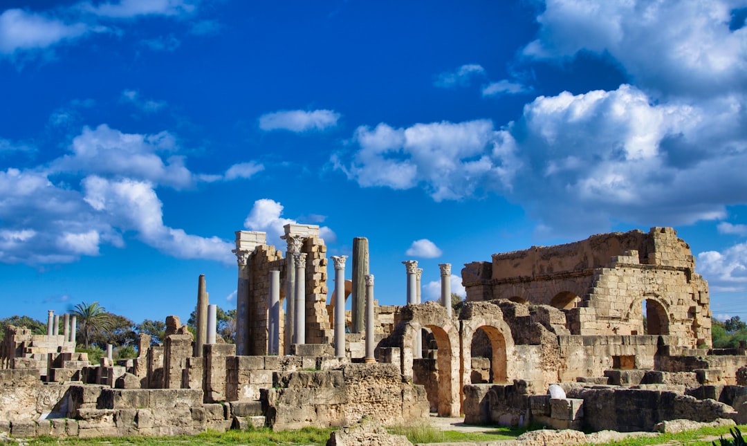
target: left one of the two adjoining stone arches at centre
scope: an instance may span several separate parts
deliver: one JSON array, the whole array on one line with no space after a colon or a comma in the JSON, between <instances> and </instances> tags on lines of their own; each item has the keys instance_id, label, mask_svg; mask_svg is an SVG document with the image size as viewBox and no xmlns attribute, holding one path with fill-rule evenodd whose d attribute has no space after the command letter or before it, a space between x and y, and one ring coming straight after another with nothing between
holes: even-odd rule
<instances>
[{"instance_id":1,"label":"left one of the two adjoining stone arches at centre","mask_svg":"<svg viewBox=\"0 0 747 446\"><path fill-rule=\"evenodd\" d=\"M395 328L401 336L396 341L400 347L402 374L413 378L415 355L412 350L415 336L429 329L438 346L436 371L438 372L437 397L438 416L458 417L461 410L462 386L459 380L459 329L449 318L444 307L434 302L406 306L401 313L403 320ZM418 384L418 382L415 382Z\"/></svg>"}]
</instances>

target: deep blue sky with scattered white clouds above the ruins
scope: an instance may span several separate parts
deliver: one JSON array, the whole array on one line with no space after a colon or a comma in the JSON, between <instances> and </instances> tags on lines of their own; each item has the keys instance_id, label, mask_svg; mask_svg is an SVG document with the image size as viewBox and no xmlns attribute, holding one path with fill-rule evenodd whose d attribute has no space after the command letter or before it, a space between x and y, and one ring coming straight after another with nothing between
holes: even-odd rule
<instances>
[{"instance_id":1,"label":"deep blue sky with scattered white clouds above the ruins","mask_svg":"<svg viewBox=\"0 0 747 446\"><path fill-rule=\"evenodd\" d=\"M0 317L235 306L234 232L438 264L675 226L747 319L747 1L0 2ZM333 272L329 270L330 276ZM350 267L347 276L350 277ZM459 288L459 278L453 278ZM332 283L330 282L330 288Z\"/></svg>"}]
</instances>

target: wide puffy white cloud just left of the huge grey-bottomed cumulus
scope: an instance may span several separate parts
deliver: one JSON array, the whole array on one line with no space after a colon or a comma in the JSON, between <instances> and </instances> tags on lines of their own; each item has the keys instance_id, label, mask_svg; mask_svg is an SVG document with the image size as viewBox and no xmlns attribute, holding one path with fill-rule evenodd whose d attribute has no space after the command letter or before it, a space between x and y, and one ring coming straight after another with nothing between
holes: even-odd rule
<instances>
[{"instance_id":1,"label":"wide puffy white cloud just left of the huge grey-bottomed cumulus","mask_svg":"<svg viewBox=\"0 0 747 446\"><path fill-rule=\"evenodd\" d=\"M423 185L436 201L462 199L493 184L509 185L520 164L505 131L490 120L415 124L392 128L361 126L360 149L335 167L362 187L409 189Z\"/></svg>"}]
</instances>

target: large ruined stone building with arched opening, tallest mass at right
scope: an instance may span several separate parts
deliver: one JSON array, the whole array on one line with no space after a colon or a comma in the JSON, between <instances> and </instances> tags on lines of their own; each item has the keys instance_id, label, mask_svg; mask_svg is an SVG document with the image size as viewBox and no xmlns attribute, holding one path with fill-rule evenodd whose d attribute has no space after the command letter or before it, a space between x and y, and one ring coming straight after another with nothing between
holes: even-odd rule
<instances>
[{"instance_id":1,"label":"large ruined stone building with arched opening, tallest mass at right","mask_svg":"<svg viewBox=\"0 0 747 446\"><path fill-rule=\"evenodd\" d=\"M465 264L468 301L507 299L563 309L575 335L672 335L710 345L707 282L672 228L593 235ZM643 304L648 308L648 333Z\"/></svg>"}]
</instances>

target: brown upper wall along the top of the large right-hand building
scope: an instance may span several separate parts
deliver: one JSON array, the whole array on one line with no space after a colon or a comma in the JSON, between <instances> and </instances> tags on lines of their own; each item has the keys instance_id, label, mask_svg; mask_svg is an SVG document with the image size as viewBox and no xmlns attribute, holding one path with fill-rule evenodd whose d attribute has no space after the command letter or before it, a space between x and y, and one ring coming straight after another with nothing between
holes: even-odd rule
<instances>
[{"instance_id":1,"label":"brown upper wall along the top of the large right-hand building","mask_svg":"<svg viewBox=\"0 0 747 446\"><path fill-rule=\"evenodd\" d=\"M583 241L553 247L492 255L490 279L542 276L604 267L610 258L636 250L640 264L695 269L689 245L672 228L654 227L648 233L633 230L592 235Z\"/></svg>"}]
</instances>

